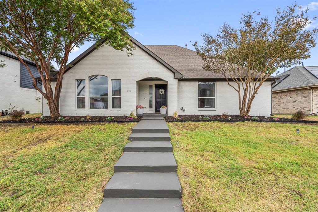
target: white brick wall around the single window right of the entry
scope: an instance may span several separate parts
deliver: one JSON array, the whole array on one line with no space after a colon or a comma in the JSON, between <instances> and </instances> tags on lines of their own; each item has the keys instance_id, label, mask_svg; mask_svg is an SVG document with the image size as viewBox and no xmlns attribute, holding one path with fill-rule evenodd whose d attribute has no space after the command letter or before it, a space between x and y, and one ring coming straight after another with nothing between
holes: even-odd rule
<instances>
[{"instance_id":1,"label":"white brick wall around the single window right of the entry","mask_svg":"<svg viewBox=\"0 0 318 212\"><path fill-rule=\"evenodd\" d=\"M234 84L234 83L233 83ZM250 115L269 116L271 113L271 82L264 82L256 94ZM224 112L230 115L239 114L239 97L237 91L226 81L216 82L216 110L198 109L198 82L178 82L178 114L179 115L220 115ZM183 107L183 112L180 108Z\"/></svg>"}]
</instances>

